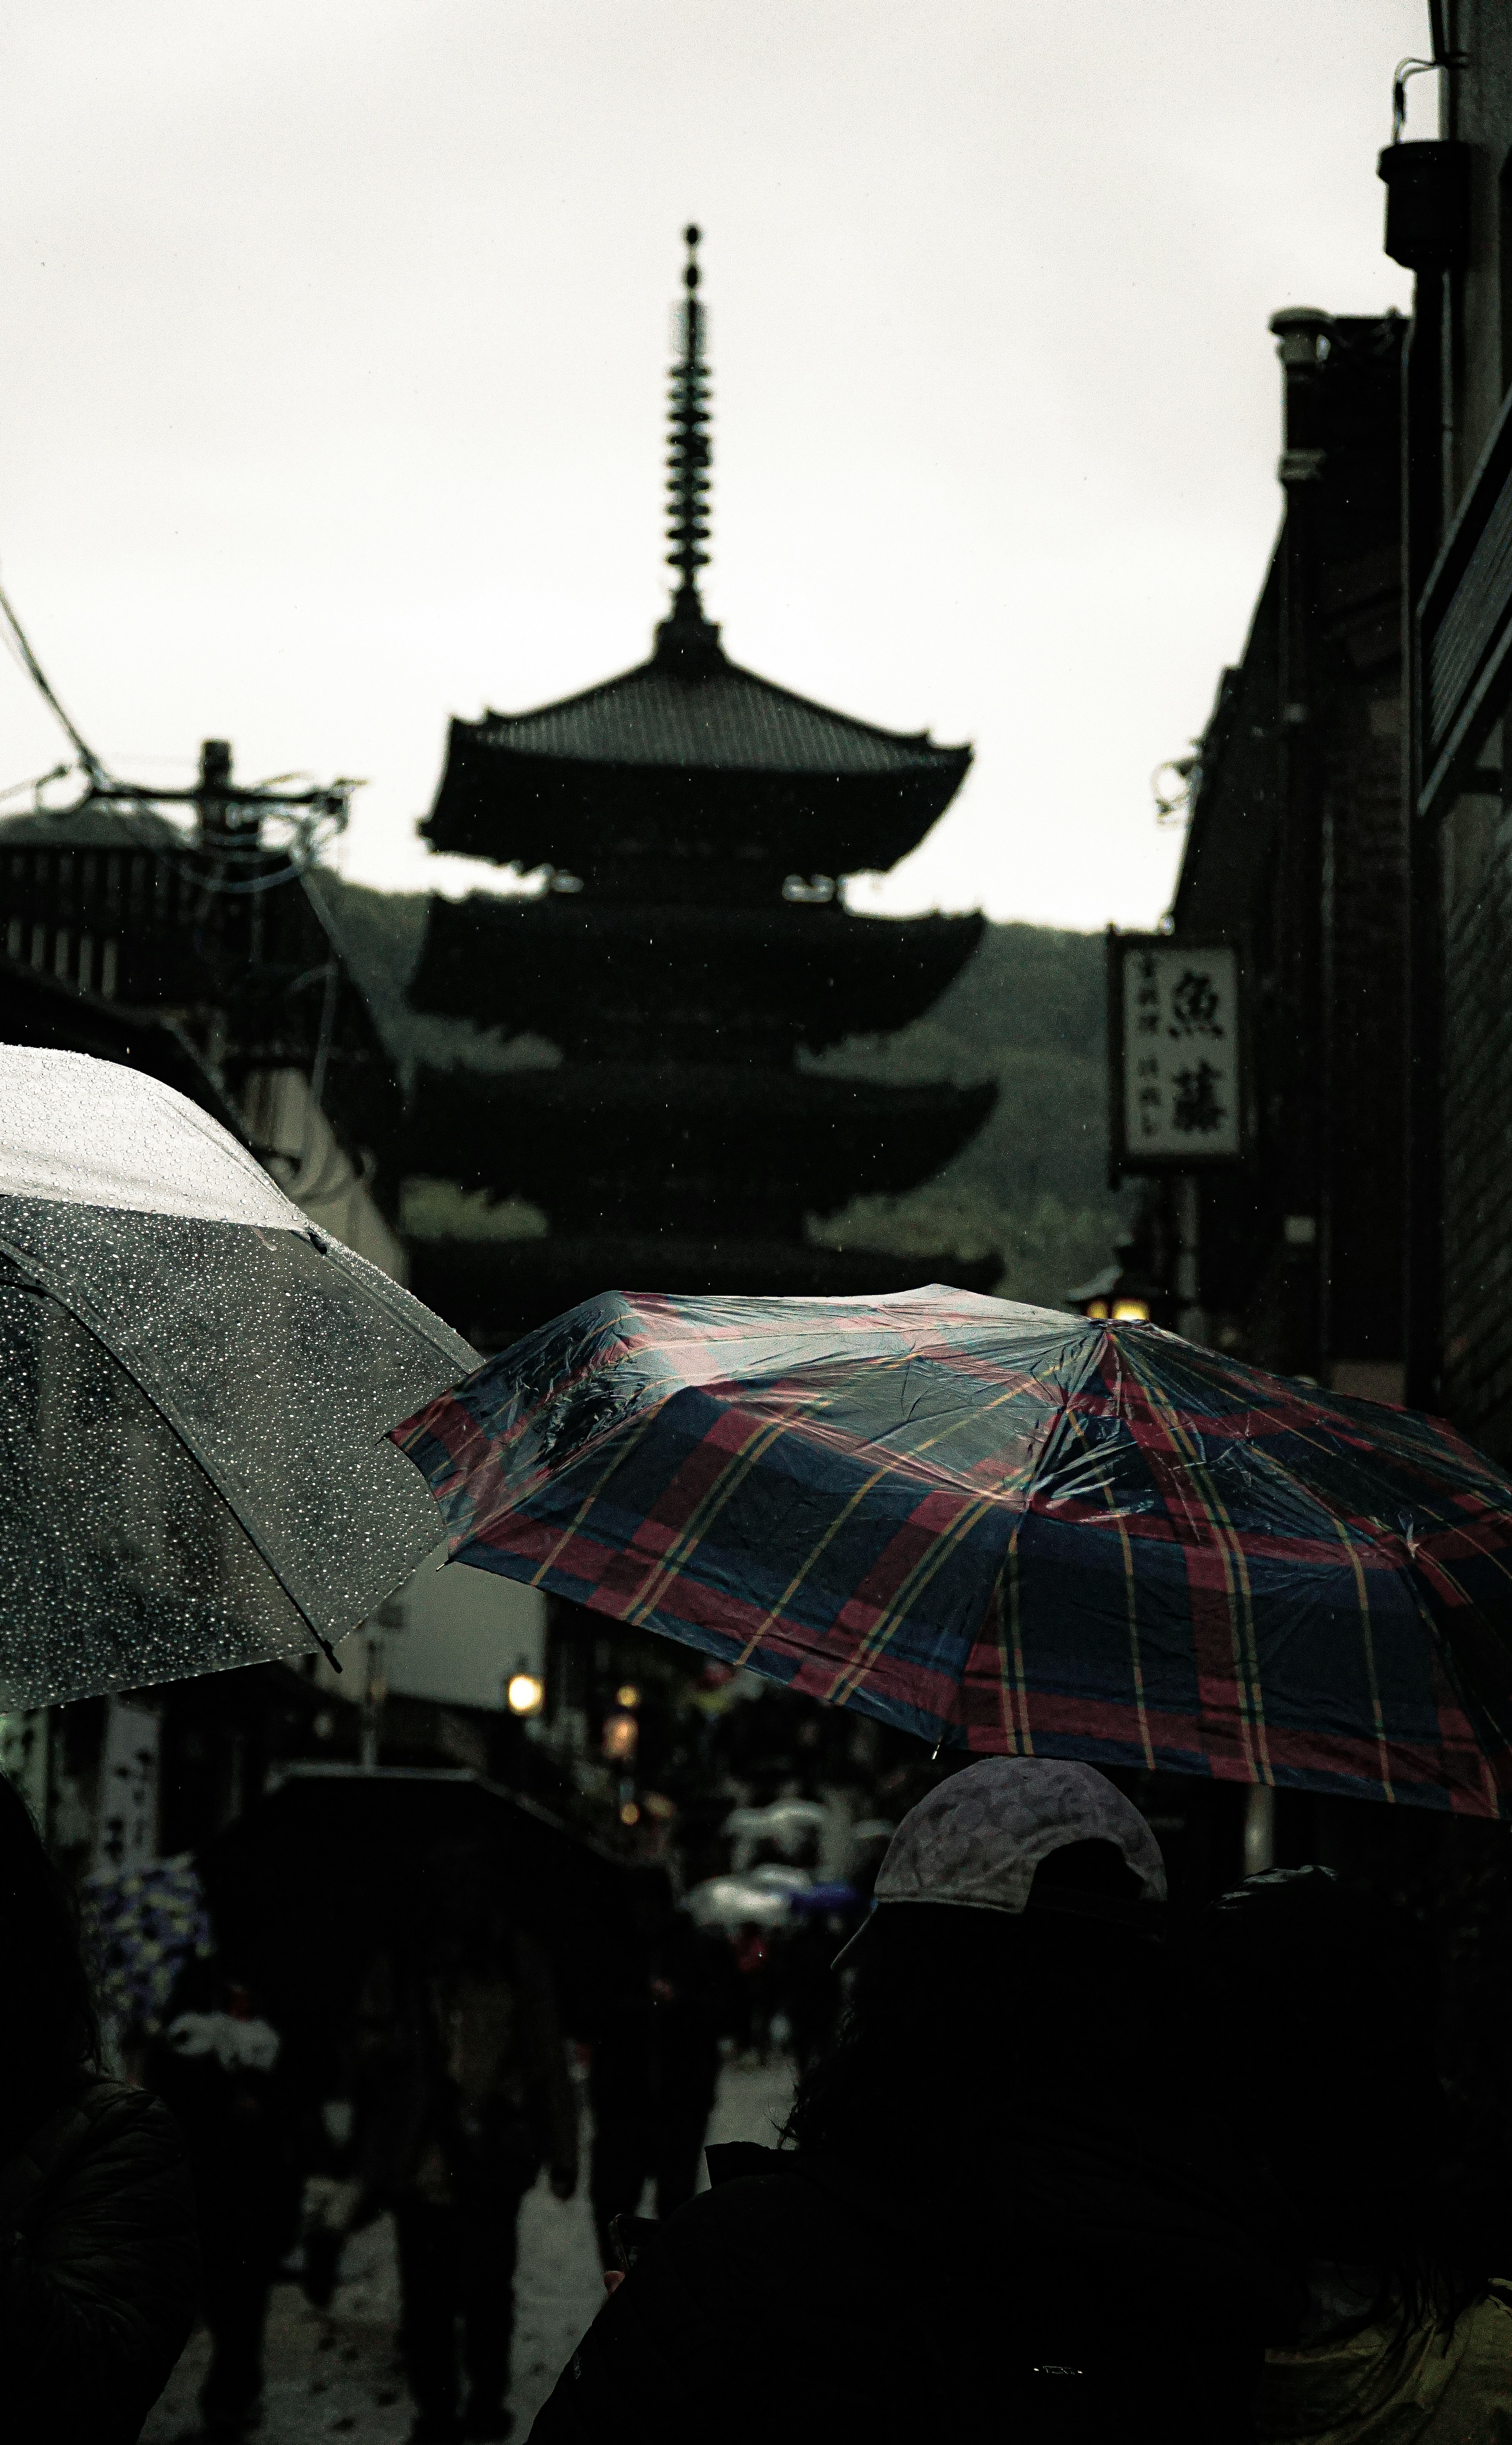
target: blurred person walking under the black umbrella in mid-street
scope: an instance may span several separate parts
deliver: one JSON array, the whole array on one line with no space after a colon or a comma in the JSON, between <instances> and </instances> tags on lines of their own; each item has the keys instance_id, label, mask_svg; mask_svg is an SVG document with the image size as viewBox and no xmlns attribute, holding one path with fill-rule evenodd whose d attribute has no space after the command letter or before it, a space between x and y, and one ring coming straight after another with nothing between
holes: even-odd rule
<instances>
[{"instance_id":1,"label":"blurred person walking under the black umbrella in mid-street","mask_svg":"<svg viewBox=\"0 0 1512 2445\"><path fill-rule=\"evenodd\" d=\"M576 2100L547 1963L476 1875L430 1941L374 1963L354 2105L359 2220L396 2215L410 2435L506 2438L520 2200L542 2161L576 2191Z\"/></svg>"}]
</instances>

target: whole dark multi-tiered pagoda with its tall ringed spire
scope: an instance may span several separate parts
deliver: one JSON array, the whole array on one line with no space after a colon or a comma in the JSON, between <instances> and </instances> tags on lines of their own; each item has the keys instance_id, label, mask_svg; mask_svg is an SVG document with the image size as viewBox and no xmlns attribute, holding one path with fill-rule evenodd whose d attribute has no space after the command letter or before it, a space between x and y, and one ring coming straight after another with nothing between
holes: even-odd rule
<instances>
[{"instance_id":1,"label":"whole dark multi-tiered pagoda with its tall ringed spire","mask_svg":"<svg viewBox=\"0 0 1512 2445\"><path fill-rule=\"evenodd\" d=\"M733 663L703 614L708 362L686 230L672 369L669 565L647 663L528 714L452 721L423 836L535 892L430 902L410 1007L476 1059L420 1066L403 1169L545 1215L545 1237L413 1240L415 1291L498 1347L596 1291L835 1296L997 1262L826 1249L811 1218L928 1181L994 1088L806 1066L921 1017L982 917L857 917L840 883L896 866L970 748L828 711ZM530 1039L501 1066L501 1042ZM491 1049L491 1051L486 1051ZM550 1066L547 1066L550 1064Z\"/></svg>"}]
</instances>

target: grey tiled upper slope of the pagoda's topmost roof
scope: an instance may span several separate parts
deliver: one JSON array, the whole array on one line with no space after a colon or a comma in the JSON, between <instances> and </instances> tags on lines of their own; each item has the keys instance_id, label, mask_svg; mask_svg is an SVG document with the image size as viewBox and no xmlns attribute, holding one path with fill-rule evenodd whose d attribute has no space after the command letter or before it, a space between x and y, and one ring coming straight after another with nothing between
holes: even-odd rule
<instances>
[{"instance_id":1,"label":"grey tiled upper slope of the pagoda's topmost roof","mask_svg":"<svg viewBox=\"0 0 1512 2445\"><path fill-rule=\"evenodd\" d=\"M679 765L725 773L916 773L965 765L967 748L940 748L926 731L879 731L757 680L718 655L689 675L664 660L640 663L532 714L486 714L479 746L576 763Z\"/></svg>"}]
</instances>

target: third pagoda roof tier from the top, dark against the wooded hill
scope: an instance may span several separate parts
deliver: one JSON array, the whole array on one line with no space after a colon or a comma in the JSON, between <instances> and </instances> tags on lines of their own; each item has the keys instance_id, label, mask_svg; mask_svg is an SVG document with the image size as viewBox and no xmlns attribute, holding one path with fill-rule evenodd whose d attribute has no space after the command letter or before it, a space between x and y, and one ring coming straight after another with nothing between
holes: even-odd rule
<instances>
[{"instance_id":1,"label":"third pagoda roof tier from the top, dark against the wooded hill","mask_svg":"<svg viewBox=\"0 0 1512 2445\"><path fill-rule=\"evenodd\" d=\"M564 1227L728 1213L772 1237L916 1188L977 1134L994 1086L877 1086L745 1064L567 1061L415 1078L401 1171L520 1196Z\"/></svg>"}]
</instances>

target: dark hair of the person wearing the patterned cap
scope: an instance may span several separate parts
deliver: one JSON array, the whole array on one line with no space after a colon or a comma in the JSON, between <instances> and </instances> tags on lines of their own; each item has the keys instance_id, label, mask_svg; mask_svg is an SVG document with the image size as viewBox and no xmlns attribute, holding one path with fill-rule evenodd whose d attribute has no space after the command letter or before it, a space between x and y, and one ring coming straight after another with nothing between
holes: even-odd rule
<instances>
[{"instance_id":1,"label":"dark hair of the person wearing the patterned cap","mask_svg":"<svg viewBox=\"0 0 1512 2445\"><path fill-rule=\"evenodd\" d=\"M992 2149L1033 2095L1045 2112L1116 2112L1158 2076L1163 1946L1131 1932L1141 1885L1111 1844L1067 1844L1033 1892L1109 1900L1099 1924L1031 1907L884 1902L855 1946L835 2044L799 2081L784 2142L884 2142L948 2161ZM1153 1905L1150 1924L1160 1924ZM1133 1914L1136 1917L1136 1914ZM1109 2034L1109 2032L1116 2032Z\"/></svg>"}]
</instances>

